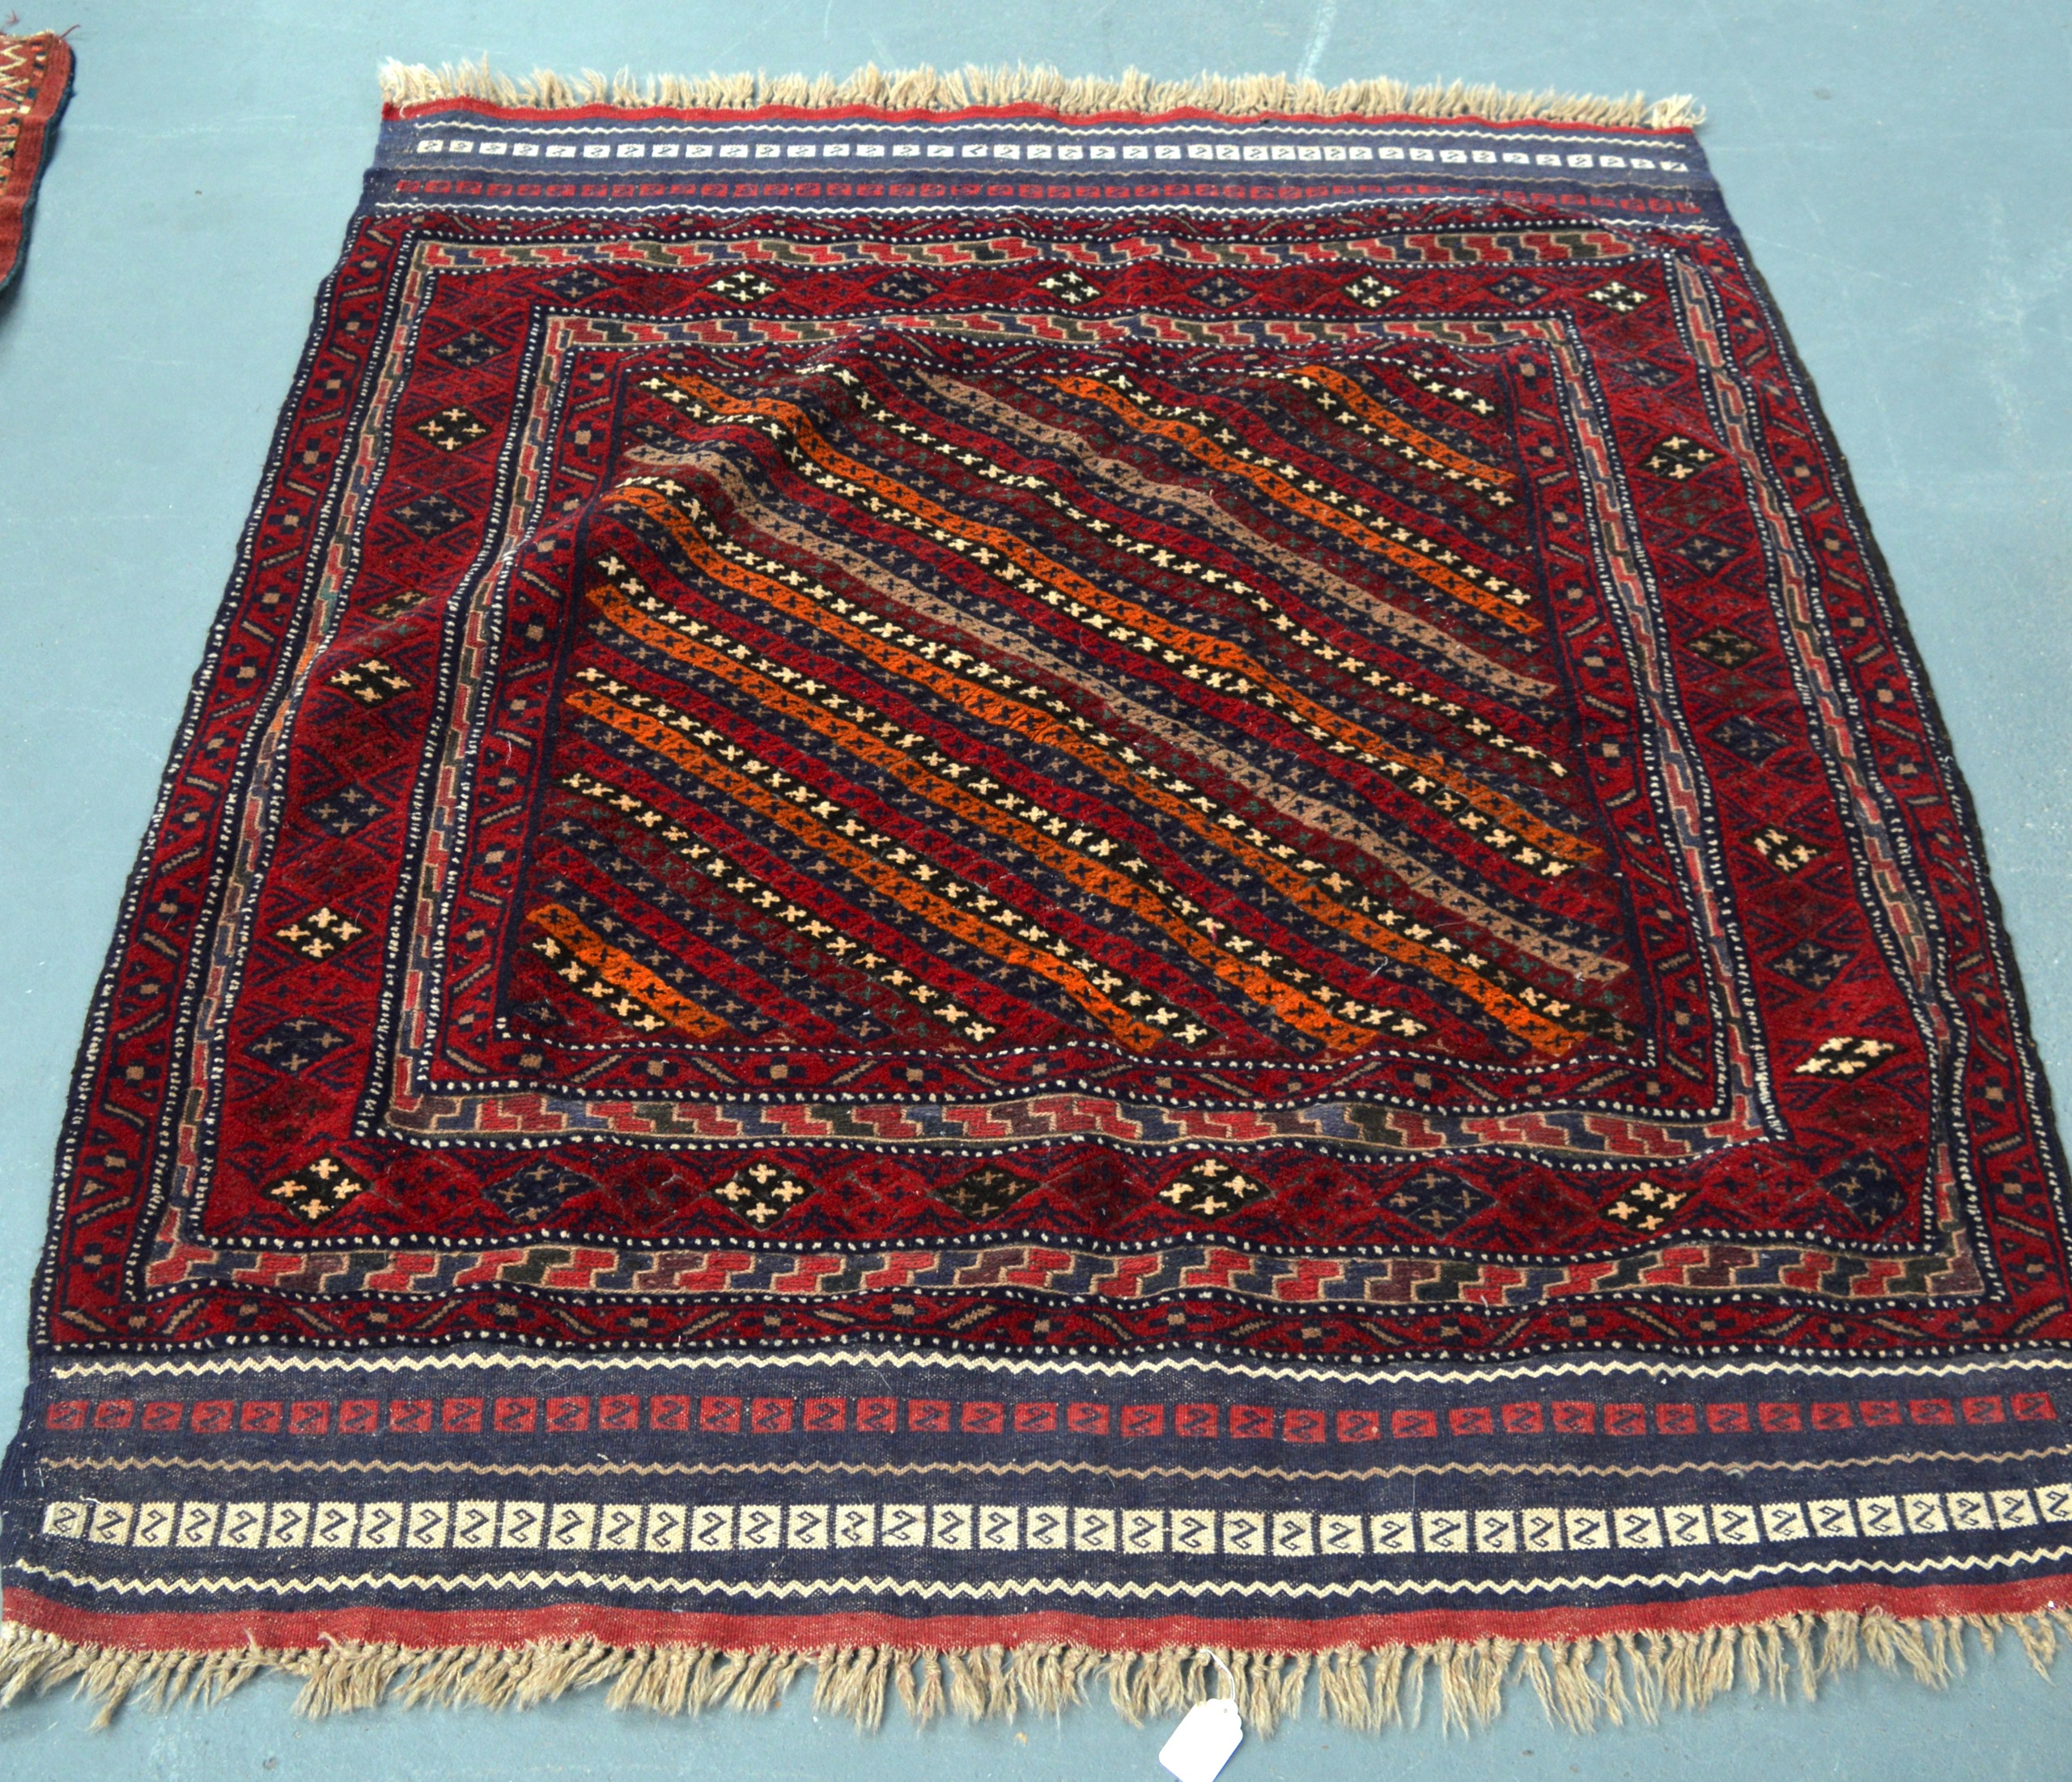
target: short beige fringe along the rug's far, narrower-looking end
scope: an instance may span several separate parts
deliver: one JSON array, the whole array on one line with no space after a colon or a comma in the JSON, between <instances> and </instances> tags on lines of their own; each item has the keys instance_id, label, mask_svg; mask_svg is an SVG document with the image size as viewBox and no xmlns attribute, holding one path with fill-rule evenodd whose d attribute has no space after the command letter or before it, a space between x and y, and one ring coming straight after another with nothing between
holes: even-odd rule
<instances>
[{"instance_id":1,"label":"short beige fringe along the rug's far, narrower-looking end","mask_svg":"<svg viewBox=\"0 0 2072 1782\"><path fill-rule=\"evenodd\" d=\"M1092 112L1220 112L1233 118L1258 116L1413 116L1486 118L1508 122L1535 118L1558 124L1643 124L1651 131L1695 128L1705 112L1689 93L1645 99L1639 93L1602 97L1560 93L1552 87L1506 91L1504 87L1432 81L1320 81L1287 75L1200 75L1193 81L1154 81L1140 68L1117 79L1100 75L1067 77L1051 66L997 68L858 68L845 81L831 75L655 75L646 81L630 70L601 75L584 68L576 79L537 68L530 79L481 62L385 62L381 97L390 106L427 106L439 99L489 99L497 106L557 112L572 106L622 106L700 112L744 112L758 106L879 106L893 112L961 112L970 106L1044 106L1061 116Z\"/></svg>"}]
</instances>

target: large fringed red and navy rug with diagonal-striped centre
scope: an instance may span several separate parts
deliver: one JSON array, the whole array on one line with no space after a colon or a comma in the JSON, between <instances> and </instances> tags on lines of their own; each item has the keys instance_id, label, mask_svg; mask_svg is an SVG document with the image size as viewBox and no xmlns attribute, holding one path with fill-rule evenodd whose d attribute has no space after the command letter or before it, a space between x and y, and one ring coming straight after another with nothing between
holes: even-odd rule
<instances>
[{"instance_id":1,"label":"large fringed red and navy rug with diagonal-striped centre","mask_svg":"<svg viewBox=\"0 0 2072 1782\"><path fill-rule=\"evenodd\" d=\"M33 1341L17 1691L2045 1660L2047 1094L1691 110L392 70Z\"/></svg>"}]
</instances>

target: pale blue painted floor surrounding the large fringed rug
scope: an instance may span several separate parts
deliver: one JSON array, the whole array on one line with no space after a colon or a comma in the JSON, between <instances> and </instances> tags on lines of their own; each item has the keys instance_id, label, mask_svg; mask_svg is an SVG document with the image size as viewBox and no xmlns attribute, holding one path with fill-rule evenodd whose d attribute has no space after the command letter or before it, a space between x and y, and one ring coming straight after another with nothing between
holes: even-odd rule
<instances>
[{"instance_id":1,"label":"pale blue painted floor surrounding the large fringed rug","mask_svg":"<svg viewBox=\"0 0 2072 1782\"><path fill-rule=\"evenodd\" d=\"M2072 1088L2072 6L2064 0L37 0L77 25L19 292L0 305L0 1417L87 993L375 137L375 66L845 73L1044 60L1160 77L1459 75L1693 91L1705 147L1819 383L1979 802L2047 1067ZM1948 1695L1881 1674L1819 1705L1575 1738L1527 1693L1475 1741L1314 1720L1231 1782L2072 1776L2072 1668L2004 1643ZM1167 1728L903 1724L798 1691L696 1724L597 1699L305 1724L286 1687L211 1714L0 1716L17 1782L209 1778L1162 1778Z\"/></svg>"}]
</instances>

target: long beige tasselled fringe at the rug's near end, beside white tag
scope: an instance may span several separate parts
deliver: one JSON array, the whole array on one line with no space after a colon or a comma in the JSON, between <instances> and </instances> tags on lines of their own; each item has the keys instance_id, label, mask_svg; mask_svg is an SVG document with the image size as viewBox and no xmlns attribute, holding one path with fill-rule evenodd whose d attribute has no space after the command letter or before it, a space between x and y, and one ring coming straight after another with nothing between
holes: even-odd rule
<instances>
[{"instance_id":1,"label":"long beige tasselled fringe at the rug's near end, beside white tag","mask_svg":"<svg viewBox=\"0 0 2072 1782\"><path fill-rule=\"evenodd\" d=\"M2039 1676L2049 1676L2072 1612L1964 1614L1902 1620L1881 1610L1788 1614L1736 1627L1618 1633L1573 1641L1452 1641L1328 1651L1237 1651L1167 1647L1100 1651L1065 1641L924 1649L841 1645L818 1649L723 1649L711 1645L611 1645L543 1639L528 1645L406 1647L327 1639L317 1647L249 1645L228 1651L128 1651L0 1627L0 1707L66 1683L108 1726L124 1701L213 1705L263 1672L300 1678L294 1712L323 1718L394 1701L404 1707L535 1707L578 1689L605 1689L609 1707L702 1714L777 1707L800 1672L814 1668L812 1707L860 1730L883 1726L897 1697L916 1726L943 1714L966 1720L1061 1716L1106 1680L1109 1701L1133 1726L1164 1720L1196 1701L1229 1695L1245 1724L1268 1734L1283 1720L1318 1712L1357 1732L1415 1726L1426 1678L1438 1689L1440 1728L1479 1732L1504 1707L1504 1691L1527 1685L1548 1720L1571 1732L1647 1724L1668 1707L1701 1709L1736 1683L1751 1695L1811 1701L1830 1676L1869 1660L1881 1670L1948 1689L1964 1672L1973 1635L1991 1654L2012 1633ZM1316 1678L1316 1689L1310 1680Z\"/></svg>"}]
</instances>

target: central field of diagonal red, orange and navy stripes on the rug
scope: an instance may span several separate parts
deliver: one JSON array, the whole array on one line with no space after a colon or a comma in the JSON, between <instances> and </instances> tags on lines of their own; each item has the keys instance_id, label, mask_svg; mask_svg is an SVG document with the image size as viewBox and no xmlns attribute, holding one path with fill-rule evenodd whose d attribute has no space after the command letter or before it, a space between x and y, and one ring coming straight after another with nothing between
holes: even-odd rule
<instances>
[{"instance_id":1,"label":"central field of diagonal red, orange and navy stripes on the rug","mask_svg":"<svg viewBox=\"0 0 2072 1782\"><path fill-rule=\"evenodd\" d=\"M570 850L603 860L613 829L574 800L628 775L667 808L622 816L655 835L663 808L754 883L657 868L698 887L680 916L642 912L696 1009L584 1009L520 970L512 1011L541 1044L661 1022L847 1055L1616 1042L1639 1011L1608 850L1564 758L1527 541L1496 530L1517 470L1386 371L636 373L584 541L584 690L551 775L574 798L547 814L564 845L535 850L526 920L580 932L543 908L582 895ZM624 717L642 702L690 742L644 742ZM733 997L698 928L723 910L750 930L765 885L825 887L827 926L773 932L785 966L748 961Z\"/></svg>"}]
</instances>

